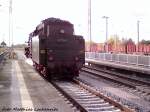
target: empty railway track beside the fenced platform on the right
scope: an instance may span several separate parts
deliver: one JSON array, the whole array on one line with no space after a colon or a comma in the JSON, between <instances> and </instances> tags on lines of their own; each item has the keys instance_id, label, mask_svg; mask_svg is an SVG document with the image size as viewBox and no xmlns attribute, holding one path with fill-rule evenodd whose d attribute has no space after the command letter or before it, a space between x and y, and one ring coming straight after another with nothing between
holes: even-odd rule
<instances>
[{"instance_id":1,"label":"empty railway track beside the fenced platform on the right","mask_svg":"<svg viewBox=\"0 0 150 112\"><path fill-rule=\"evenodd\" d=\"M117 86L124 86L124 88L126 88L126 90L129 92L134 93L147 101L150 101L150 82L148 81L135 79L113 71L101 70L88 66L85 66L82 71L117 83Z\"/></svg>"}]
</instances>

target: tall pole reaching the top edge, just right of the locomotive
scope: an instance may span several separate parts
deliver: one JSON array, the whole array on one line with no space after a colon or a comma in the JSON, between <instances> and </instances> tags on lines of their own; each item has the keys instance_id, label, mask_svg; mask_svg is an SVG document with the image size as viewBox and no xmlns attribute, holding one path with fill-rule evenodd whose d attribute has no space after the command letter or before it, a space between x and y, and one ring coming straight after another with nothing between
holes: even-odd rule
<instances>
[{"instance_id":1,"label":"tall pole reaching the top edge, just right of the locomotive","mask_svg":"<svg viewBox=\"0 0 150 112\"><path fill-rule=\"evenodd\" d=\"M89 47L91 52L91 0L88 0L88 37L89 37Z\"/></svg>"}]
</instances>

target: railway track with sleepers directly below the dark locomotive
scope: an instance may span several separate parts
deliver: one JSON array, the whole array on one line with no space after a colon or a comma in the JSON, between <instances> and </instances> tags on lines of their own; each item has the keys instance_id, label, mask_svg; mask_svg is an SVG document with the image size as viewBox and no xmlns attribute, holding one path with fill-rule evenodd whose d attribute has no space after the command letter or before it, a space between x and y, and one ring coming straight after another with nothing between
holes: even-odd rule
<instances>
[{"instance_id":1,"label":"railway track with sleepers directly below the dark locomotive","mask_svg":"<svg viewBox=\"0 0 150 112\"><path fill-rule=\"evenodd\" d=\"M133 112L78 79L52 84L81 112Z\"/></svg>"}]
</instances>

